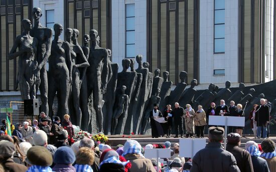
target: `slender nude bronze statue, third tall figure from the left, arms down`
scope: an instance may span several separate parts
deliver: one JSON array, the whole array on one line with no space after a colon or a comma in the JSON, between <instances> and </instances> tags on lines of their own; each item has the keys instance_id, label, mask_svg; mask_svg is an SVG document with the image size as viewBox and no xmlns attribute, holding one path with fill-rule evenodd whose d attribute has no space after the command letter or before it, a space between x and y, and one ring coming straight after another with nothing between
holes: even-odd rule
<instances>
[{"instance_id":1,"label":"slender nude bronze statue, third tall figure from the left, arms down","mask_svg":"<svg viewBox=\"0 0 276 172\"><path fill-rule=\"evenodd\" d=\"M49 58L49 116L53 116L53 102L57 92L58 113L60 118L68 114L68 98L70 83L72 81L71 48L67 41L62 41L60 35L63 27L54 25L55 38L52 42L51 56ZM65 36L72 36L73 31L66 30Z\"/></svg>"}]
</instances>

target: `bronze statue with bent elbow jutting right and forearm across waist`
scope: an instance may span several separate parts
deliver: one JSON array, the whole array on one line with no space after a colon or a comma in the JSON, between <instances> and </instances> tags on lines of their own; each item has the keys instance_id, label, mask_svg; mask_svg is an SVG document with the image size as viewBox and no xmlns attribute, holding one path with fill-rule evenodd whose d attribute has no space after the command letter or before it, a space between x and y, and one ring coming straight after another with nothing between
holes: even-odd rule
<instances>
[{"instance_id":1,"label":"bronze statue with bent elbow jutting right and forearm across waist","mask_svg":"<svg viewBox=\"0 0 276 172\"><path fill-rule=\"evenodd\" d=\"M70 40L70 46L76 56L71 56L72 60L72 91L71 91L71 121L75 123L75 125L80 126L82 113L80 109L80 88L82 85L82 81L84 75L81 75L79 69L83 69L86 71L86 68L89 66L89 63L78 43L79 31L77 29L73 29L73 35ZM68 40L69 42L69 40Z\"/></svg>"}]
</instances>

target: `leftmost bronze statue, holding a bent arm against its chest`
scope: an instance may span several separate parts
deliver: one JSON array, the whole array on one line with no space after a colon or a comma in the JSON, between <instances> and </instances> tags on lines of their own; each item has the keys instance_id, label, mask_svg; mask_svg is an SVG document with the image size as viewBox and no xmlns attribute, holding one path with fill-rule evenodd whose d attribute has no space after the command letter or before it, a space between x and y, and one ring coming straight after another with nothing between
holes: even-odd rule
<instances>
[{"instance_id":1,"label":"leftmost bronze statue, holding a bent arm against its chest","mask_svg":"<svg viewBox=\"0 0 276 172\"><path fill-rule=\"evenodd\" d=\"M18 36L8 55L9 60L13 60L19 56L18 60L18 82L22 99L35 99L37 87L39 86L39 73L34 73L37 70L37 44L36 38L30 36L32 29L31 21L28 19L22 20L24 32ZM16 49L19 49L16 52Z\"/></svg>"}]
</instances>

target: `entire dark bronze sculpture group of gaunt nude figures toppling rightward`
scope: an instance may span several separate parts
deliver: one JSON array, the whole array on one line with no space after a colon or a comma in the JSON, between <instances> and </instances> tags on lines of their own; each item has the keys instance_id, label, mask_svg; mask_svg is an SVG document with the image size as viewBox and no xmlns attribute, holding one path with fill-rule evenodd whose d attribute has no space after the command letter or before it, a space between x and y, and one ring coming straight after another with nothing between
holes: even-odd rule
<instances>
[{"instance_id":1,"label":"entire dark bronze sculpture group of gaunt nude figures toppling rightward","mask_svg":"<svg viewBox=\"0 0 276 172\"><path fill-rule=\"evenodd\" d=\"M210 84L208 90L199 94L194 88L196 79L186 88L185 71L180 72L181 81L171 91L173 83L169 81L169 72L164 71L163 78L159 76L159 69L151 73L150 65L143 63L142 55L123 59L123 70L118 72L118 64L110 61L111 50L99 46L96 30L90 30L89 35L83 36L84 45L81 47L77 29L65 29L63 41L60 39L63 27L55 24L54 40L51 41L52 30L40 23L40 8L33 9L33 17L33 28L30 20L22 20L24 32L16 38L8 56L10 60L19 56L18 82L22 99L36 98L39 89L42 111L50 117L63 117L69 113L72 123L83 130L106 134L145 134L150 132L149 113L153 104L159 104L162 111L167 104L175 102L181 106L202 105L207 109L211 102L217 103L220 99L225 99L226 103L234 100L242 105L246 101L259 100L253 98L253 88L248 94L243 93L243 83L238 90L231 91L230 81L226 81L225 88L220 90L215 84ZM137 69L134 69L135 62ZM54 114L56 95L58 111ZM93 120L97 131L91 131L91 125L95 125Z\"/></svg>"}]
</instances>

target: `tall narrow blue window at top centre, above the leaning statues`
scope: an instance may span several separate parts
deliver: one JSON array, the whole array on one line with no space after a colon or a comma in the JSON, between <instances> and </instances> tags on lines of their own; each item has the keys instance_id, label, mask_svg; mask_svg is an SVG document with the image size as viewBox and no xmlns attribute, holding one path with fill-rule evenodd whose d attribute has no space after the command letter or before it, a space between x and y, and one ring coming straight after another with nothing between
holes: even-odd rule
<instances>
[{"instance_id":1,"label":"tall narrow blue window at top centre, above the leaning statues","mask_svg":"<svg viewBox=\"0 0 276 172\"><path fill-rule=\"evenodd\" d=\"M135 6L125 5L125 57L135 57Z\"/></svg>"}]
</instances>

